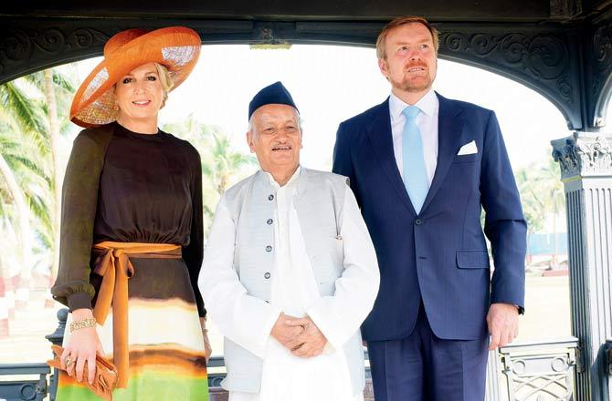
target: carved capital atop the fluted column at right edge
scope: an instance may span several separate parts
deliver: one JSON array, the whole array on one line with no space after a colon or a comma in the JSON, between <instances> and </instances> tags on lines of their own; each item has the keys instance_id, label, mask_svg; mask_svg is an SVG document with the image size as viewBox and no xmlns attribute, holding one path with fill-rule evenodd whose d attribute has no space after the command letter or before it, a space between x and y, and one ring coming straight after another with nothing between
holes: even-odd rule
<instances>
[{"instance_id":1,"label":"carved capital atop the fluted column at right edge","mask_svg":"<svg viewBox=\"0 0 612 401\"><path fill-rule=\"evenodd\" d=\"M574 132L551 144L554 161L561 166L561 180L612 176L612 134Z\"/></svg>"}]
</instances>

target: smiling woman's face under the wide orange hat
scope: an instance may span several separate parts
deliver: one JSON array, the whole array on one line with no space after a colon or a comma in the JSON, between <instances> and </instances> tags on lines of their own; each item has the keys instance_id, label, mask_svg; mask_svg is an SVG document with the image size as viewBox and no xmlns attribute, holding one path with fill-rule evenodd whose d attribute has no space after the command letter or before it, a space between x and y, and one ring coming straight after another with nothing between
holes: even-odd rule
<instances>
[{"instance_id":1,"label":"smiling woman's face under the wide orange hat","mask_svg":"<svg viewBox=\"0 0 612 401\"><path fill-rule=\"evenodd\" d=\"M124 122L151 122L164 101L164 88L153 63L132 69L115 86L120 119Z\"/></svg>"}]
</instances>

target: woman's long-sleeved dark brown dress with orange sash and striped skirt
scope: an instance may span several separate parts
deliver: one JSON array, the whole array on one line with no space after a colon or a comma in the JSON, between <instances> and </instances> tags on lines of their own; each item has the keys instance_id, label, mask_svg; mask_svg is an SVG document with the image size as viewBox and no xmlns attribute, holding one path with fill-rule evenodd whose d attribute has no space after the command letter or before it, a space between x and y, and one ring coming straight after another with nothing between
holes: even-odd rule
<instances>
[{"instance_id":1,"label":"woman's long-sleeved dark brown dress with orange sash and striped skirt","mask_svg":"<svg viewBox=\"0 0 612 401\"><path fill-rule=\"evenodd\" d=\"M93 306L102 347L125 387L113 399L208 399L198 319L206 315L197 288L202 257L197 150L163 131L139 134L117 122L81 131L64 180L52 293L71 311ZM62 372L57 399L97 396Z\"/></svg>"}]
</instances>

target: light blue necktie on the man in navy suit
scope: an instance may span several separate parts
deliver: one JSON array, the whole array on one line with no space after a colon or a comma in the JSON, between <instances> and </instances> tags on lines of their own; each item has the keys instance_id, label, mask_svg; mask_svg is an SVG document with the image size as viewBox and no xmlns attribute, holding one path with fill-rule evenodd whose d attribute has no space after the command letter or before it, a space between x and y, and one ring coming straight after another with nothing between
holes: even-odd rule
<instances>
[{"instance_id":1,"label":"light blue necktie on the man in navy suit","mask_svg":"<svg viewBox=\"0 0 612 401\"><path fill-rule=\"evenodd\" d=\"M408 106L402 110L406 125L402 133L402 158L404 159L404 185L417 214L423 207L429 182L423 156L423 138L417 127L417 116L420 108Z\"/></svg>"}]
</instances>

